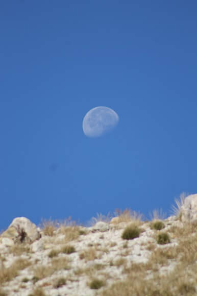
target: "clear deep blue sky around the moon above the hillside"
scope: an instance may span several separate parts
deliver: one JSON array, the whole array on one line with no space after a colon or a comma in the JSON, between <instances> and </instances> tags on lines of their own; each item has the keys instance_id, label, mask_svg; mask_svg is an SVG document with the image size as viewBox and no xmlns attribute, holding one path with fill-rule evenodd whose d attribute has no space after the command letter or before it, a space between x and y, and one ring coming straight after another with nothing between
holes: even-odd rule
<instances>
[{"instance_id":1,"label":"clear deep blue sky around the moon above the hillside","mask_svg":"<svg viewBox=\"0 0 197 296\"><path fill-rule=\"evenodd\" d=\"M197 192L197 2L0 3L0 229ZM88 138L85 114L118 126Z\"/></svg>"}]
</instances>

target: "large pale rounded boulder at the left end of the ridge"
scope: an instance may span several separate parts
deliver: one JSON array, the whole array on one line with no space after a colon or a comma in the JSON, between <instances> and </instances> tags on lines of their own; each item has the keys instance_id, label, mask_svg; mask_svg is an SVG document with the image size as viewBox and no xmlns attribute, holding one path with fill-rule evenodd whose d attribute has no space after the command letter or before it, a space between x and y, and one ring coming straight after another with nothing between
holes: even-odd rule
<instances>
[{"instance_id":1,"label":"large pale rounded boulder at the left end of the ridge","mask_svg":"<svg viewBox=\"0 0 197 296\"><path fill-rule=\"evenodd\" d=\"M0 241L5 245L12 245L17 242L29 242L41 237L36 225L26 217L15 218L9 228L2 233Z\"/></svg>"}]
</instances>

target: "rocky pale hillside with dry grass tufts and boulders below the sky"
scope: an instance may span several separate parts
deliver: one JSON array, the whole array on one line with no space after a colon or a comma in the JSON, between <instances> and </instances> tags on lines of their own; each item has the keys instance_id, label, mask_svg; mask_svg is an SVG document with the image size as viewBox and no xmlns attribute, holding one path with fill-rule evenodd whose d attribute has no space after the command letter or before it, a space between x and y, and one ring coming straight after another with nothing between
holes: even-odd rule
<instances>
[{"instance_id":1,"label":"rocky pale hillside with dry grass tufts and boulders below the sky","mask_svg":"<svg viewBox=\"0 0 197 296\"><path fill-rule=\"evenodd\" d=\"M151 221L126 210L91 227L15 218L0 236L0 296L196 295L197 194L174 210Z\"/></svg>"}]
</instances>

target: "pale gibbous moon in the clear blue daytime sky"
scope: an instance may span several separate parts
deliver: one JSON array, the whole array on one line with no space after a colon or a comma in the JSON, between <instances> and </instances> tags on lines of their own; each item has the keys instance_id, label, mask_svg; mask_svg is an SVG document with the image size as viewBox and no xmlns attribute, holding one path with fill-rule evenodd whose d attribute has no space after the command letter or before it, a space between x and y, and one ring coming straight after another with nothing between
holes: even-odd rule
<instances>
[{"instance_id":1,"label":"pale gibbous moon in the clear blue daytime sky","mask_svg":"<svg viewBox=\"0 0 197 296\"><path fill-rule=\"evenodd\" d=\"M108 107L95 107L83 119L83 131L87 137L95 138L112 130L119 121L117 113Z\"/></svg>"}]
</instances>

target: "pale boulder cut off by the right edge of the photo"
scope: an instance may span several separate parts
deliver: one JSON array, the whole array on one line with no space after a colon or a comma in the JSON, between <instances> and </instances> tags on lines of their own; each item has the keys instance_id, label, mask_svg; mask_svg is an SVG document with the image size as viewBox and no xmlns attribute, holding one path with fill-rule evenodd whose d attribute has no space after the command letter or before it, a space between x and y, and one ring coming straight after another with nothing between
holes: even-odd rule
<instances>
[{"instance_id":1,"label":"pale boulder cut off by the right edge of the photo","mask_svg":"<svg viewBox=\"0 0 197 296\"><path fill-rule=\"evenodd\" d=\"M197 220L197 194L191 194L185 198L180 212L182 222Z\"/></svg>"}]
</instances>

